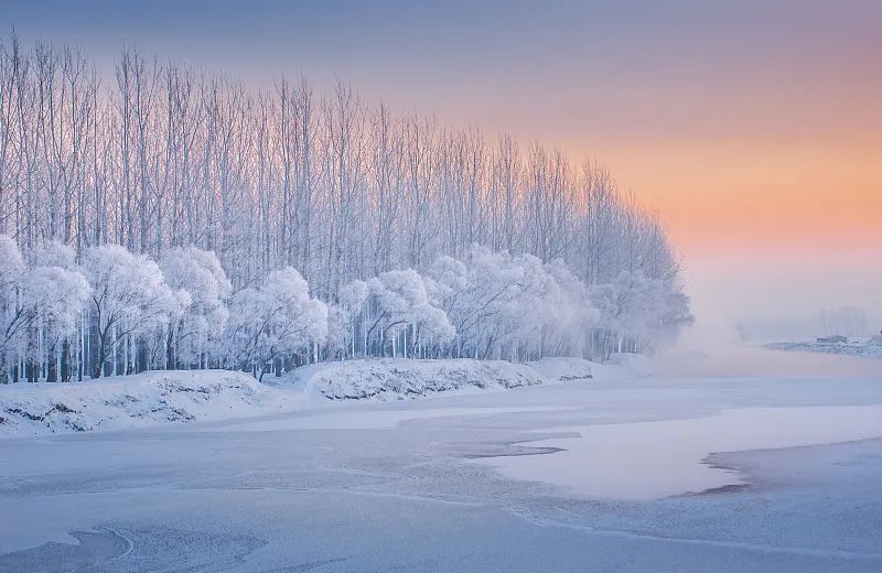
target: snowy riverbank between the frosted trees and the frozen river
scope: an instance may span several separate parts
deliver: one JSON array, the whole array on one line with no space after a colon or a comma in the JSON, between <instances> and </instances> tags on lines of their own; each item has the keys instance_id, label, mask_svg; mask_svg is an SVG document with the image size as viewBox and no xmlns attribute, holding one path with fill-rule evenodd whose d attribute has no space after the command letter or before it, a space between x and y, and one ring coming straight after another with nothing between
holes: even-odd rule
<instances>
[{"instance_id":1,"label":"snowy riverbank between the frosted trees and the frozen river","mask_svg":"<svg viewBox=\"0 0 882 573\"><path fill-rule=\"evenodd\" d=\"M471 359L322 363L267 383L228 370L153 371L72 383L0 387L0 437L123 430L260 417L342 402L388 402L540 383L628 377L638 357L604 366L578 358L512 364Z\"/></svg>"}]
</instances>

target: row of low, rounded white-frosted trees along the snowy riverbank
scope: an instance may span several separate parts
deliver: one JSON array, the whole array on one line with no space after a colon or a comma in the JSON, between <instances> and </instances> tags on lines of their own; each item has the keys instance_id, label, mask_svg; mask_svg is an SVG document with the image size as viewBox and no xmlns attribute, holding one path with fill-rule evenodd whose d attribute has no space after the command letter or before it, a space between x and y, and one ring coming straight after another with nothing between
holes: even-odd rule
<instances>
[{"instance_id":1,"label":"row of low, rounded white-frosted trees along the snowy riverbank","mask_svg":"<svg viewBox=\"0 0 882 573\"><path fill-rule=\"evenodd\" d=\"M193 246L155 262L118 245L52 241L20 252L0 236L3 380L67 381L151 368L281 374L356 356L526 359L584 355L674 333L686 298L643 273L588 286L560 259L474 247L426 274L391 270L310 294L293 268L233 292L217 256Z\"/></svg>"}]
</instances>

